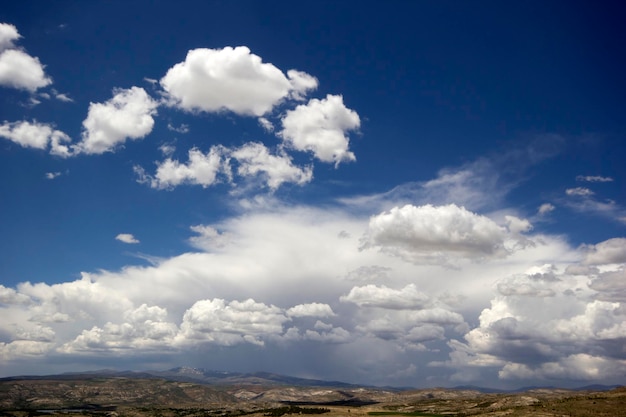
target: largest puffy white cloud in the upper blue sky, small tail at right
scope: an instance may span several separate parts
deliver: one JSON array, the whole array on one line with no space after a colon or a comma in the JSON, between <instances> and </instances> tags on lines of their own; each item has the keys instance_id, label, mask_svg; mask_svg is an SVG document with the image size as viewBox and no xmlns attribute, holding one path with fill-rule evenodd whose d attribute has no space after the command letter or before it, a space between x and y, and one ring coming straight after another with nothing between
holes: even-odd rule
<instances>
[{"instance_id":1,"label":"largest puffy white cloud in the upper blue sky, small tail at right","mask_svg":"<svg viewBox=\"0 0 626 417\"><path fill-rule=\"evenodd\" d=\"M231 111L262 116L287 97L300 99L317 87L301 71L285 75L245 46L190 50L160 81L171 104L187 111Z\"/></svg>"}]
</instances>

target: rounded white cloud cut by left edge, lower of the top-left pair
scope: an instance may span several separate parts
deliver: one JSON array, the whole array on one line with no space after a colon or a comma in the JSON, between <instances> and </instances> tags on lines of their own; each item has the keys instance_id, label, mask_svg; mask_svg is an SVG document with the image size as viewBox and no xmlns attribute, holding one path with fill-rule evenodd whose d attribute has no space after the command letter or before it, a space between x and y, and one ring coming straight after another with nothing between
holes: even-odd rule
<instances>
[{"instance_id":1,"label":"rounded white cloud cut by left edge, lower of the top-left pair","mask_svg":"<svg viewBox=\"0 0 626 417\"><path fill-rule=\"evenodd\" d=\"M0 53L0 85L35 92L52 84L39 58L18 49Z\"/></svg>"}]
</instances>

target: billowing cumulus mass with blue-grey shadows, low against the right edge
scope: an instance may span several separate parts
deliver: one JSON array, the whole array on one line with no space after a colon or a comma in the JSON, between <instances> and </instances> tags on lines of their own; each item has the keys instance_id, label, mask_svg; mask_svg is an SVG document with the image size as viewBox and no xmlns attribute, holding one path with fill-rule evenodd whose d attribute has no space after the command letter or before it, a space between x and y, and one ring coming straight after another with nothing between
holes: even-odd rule
<instances>
[{"instance_id":1,"label":"billowing cumulus mass with blue-grey shadows, low against the right edge","mask_svg":"<svg viewBox=\"0 0 626 417\"><path fill-rule=\"evenodd\" d=\"M465 343L451 344L457 369L494 368L501 379L605 381L623 375L626 355L624 259L615 239L589 268L547 264L502 278L497 296ZM583 260L585 262L585 260ZM616 264L621 262L621 264Z\"/></svg>"}]
</instances>

